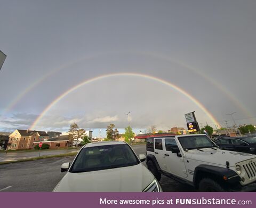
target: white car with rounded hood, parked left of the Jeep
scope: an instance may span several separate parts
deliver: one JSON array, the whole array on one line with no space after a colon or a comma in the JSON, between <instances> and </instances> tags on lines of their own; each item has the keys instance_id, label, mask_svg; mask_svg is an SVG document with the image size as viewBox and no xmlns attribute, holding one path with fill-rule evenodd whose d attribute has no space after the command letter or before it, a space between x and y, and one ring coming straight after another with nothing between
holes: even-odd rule
<instances>
[{"instance_id":1,"label":"white car with rounded hood, parked left of the Jeep","mask_svg":"<svg viewBox=\"0 0 256 208\"><path fill-rule=\"evenodd\" d=\"M162 191L154 175L141 162L145 155L134 153L123 141L95 142L85 145L70 165L67 174L53 191Z\"/></svg>"}]
</instances>

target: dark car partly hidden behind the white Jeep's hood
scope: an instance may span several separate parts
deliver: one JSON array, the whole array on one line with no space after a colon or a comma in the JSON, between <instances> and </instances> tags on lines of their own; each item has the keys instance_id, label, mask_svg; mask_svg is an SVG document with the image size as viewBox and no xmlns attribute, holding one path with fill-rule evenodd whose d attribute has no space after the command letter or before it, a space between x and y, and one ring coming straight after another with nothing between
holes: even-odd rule
<instances>
[{"instance_id":1,"label":"dark car partly hidden behind the white Jeep's hood","mask_svg":"<svg viewBox=\"0 0 256 208\"><path fill-rule=\"evenodd\" d=\"M224 137L215 141L220 149L256 154L256 138Z\"/></svg>"}]
</instances>

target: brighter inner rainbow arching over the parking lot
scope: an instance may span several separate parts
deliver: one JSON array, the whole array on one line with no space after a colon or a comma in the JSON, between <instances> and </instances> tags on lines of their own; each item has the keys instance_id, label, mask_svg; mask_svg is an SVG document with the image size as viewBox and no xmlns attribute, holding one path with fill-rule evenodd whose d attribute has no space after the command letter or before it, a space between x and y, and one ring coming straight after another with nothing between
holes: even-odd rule
<instances>
[{"instance_id":1,"label":"brighter inner rainbow arching over the parking lot","mask_svg":"<svg viewBox=\"0 0 256 208\"><path fill-rule=\"evenodd\" d=\"M66 95L68 95L69 93L75 91L76 89L78 89L79 87L82 87L86 84L92 83L94 81L99 81L100 79L103 78L108 78L108 77L115 77L115 76L135 76L135 77L141 77L141 78L148 78L150 80L153 81L157 81L160 82L162 84L165 84L167 86L172 87L172 89L182 93L183 95L185 95L189 100L193 101L199 108L201 108L204 113L211 119L211 121L218 126L221 126L219 124L219 122L217 121L217 119L214 118L214 116L210 113L209 110L207 110L203 104L201 102L199 102L196 98L194 98L192 95L190 95L189 93L187 93L185 90L181 89L180 87L178 87L177 85L174 85L170 82L165 81L164 79L160 79L154 76L150 76L150 75L146 75L146 74L138 74L138 73L114 73L114 74L106 74L106 75L101 75L101 76L97 76L91 79L87 79L86 81L83 81L73 87L71 87L69 90L67 90L66 92L62 93L61 95L59 95L59 97L57 97L55 100L53 100L43 111L42 113L35 119L35 121L33 122L33 124L31 124L29 129L35 129L37 123L40 121L40 119L47 113L47 111L49 111L57 102L59 102L62 98L64 98Z\"/></svg>"}]
</instances>

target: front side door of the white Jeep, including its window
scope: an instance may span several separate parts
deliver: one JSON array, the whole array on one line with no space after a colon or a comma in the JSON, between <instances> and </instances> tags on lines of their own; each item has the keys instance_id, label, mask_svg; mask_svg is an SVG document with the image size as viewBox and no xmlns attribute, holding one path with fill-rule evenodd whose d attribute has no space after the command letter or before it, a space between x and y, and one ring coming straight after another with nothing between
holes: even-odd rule
<instances>
[{"instance_id":1,"label":"front side door of the white Jeep, including its window","mask_svg":"<svg viewBox=\"0 0 256 208\"><path fill-rule=\"evenodd\" d=\"M177 175L181 178L186 178L187 170L184 163L184 158L180 153L172 153L173 149L179 148L175 139L164 139L164 156L167 165L167 172Z\"/></svg>"}]
</instances>

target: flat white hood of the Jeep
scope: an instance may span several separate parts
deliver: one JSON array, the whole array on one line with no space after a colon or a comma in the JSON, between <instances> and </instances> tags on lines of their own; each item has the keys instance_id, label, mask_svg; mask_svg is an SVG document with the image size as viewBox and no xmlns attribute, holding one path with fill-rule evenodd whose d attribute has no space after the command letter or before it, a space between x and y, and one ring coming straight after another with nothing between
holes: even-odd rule
<instances>
[{"instance_id":1,"label":"flat white hood of the Jeep","mask_svg":"<svg viewBox=\"0 0 256 208\"><path fill-rule=\"evenodd\" d=\"M234 167L236 163L246 161L247 159L256 158L256 155L248 153L238 153L237 151L227 151L221 149L204 148L203 151L193 149L185 153L187 159L194 159L196 161L218 164L226 167L226 162L229 166Z\"/></svg>"}]
</instances>

